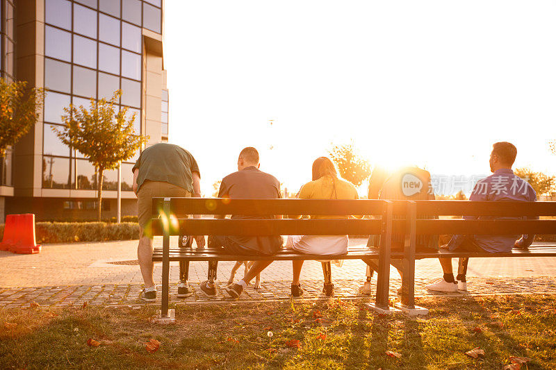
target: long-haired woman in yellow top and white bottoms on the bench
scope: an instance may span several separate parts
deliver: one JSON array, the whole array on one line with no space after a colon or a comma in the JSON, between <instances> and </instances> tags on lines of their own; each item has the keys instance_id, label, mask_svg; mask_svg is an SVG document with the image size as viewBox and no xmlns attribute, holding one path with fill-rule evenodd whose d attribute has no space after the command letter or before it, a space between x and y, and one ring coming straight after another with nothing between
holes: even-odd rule
<instances>
[{"instance_id":1,"label":"long-haired woman in yellow top and white bottoms on the bench","mask_svg":"<svg viewBox=\"0 0 556 370\"><path fill-rule=\"evenodd\" d=\"M302 186L297 198L300 199L358 199L354 185L342 178L338 178L332 160L320 157L313 162L313 180ZM311 216L312 219L347 219L349 216ZM300 253L338 255L347 253L347 235L291 235L286 245ZM293 261L292 296L301 296L303 289L300 284L303 261ZM322 271L329 265L322 262ZM334 294L334 284L327 280L325 273L325 287L323 292L327 296Z\"/></svg>"}]
</instances>

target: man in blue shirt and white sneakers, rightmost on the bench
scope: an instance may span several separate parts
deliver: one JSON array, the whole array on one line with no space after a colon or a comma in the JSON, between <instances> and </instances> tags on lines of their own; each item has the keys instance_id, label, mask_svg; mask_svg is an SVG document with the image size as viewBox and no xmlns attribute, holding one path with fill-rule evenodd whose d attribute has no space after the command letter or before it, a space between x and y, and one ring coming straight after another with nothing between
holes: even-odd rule
<instances>
[{"instance_id":1,"label":"man in blue shirt and white sneakers, rightmost on the bench","mask_svg":"<svg viewBox=\"0 0 556 370\"><path fill-rule=\"evenodd\" d=\"M470 201L537 201L537 194L523 178L514 175L512 165L517 149L509 142L493 144L489 160L493 174L478 181L469 197ZM527 217L465 216L464 219L526 219ZM532 217L538 218L538 217ZM527 249L534 235L454 235L440 247L449 251L509 252L512 248ZM468 258L460 258L457 281L452 272L452 259L439 258L444 271L443 280L427 285L437 292L466 291Z\"/></svg>"}]
</instances>

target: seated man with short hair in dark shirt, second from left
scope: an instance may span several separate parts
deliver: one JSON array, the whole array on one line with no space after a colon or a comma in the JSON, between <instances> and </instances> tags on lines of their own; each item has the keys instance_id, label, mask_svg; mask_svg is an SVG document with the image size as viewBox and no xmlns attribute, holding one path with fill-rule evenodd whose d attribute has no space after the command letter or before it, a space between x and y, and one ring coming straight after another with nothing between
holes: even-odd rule
<instances>
[{"instance_id":1,"label":"seated man with short hair in dark shirt, second from left","mask_svg":"<svg viewBox=\"0 0 556 370\"><path fill-rule=\"evenodd\" d=\"M243 149L238 158L238 171L222 179L220 183L219 198L229 199L279 199L281 198L280 183L272 175L259 170L259 152L252 147ZM215 215L223 219L225 215ZM232 219L274 219L281 216L245 216L232 215ZM281 249L280 235L274 236L213 236L209 237L209 246L220 246L224 252L237 255L273 255ZM256 275L260 274L272 261L256 261L247 275L237 284L224 288L226 292L237 298L243 289ZM201 283L202 292L208 296L216 296L214 280L218 262L209 262L208 280Z\"/></svg>"}]
</instances>

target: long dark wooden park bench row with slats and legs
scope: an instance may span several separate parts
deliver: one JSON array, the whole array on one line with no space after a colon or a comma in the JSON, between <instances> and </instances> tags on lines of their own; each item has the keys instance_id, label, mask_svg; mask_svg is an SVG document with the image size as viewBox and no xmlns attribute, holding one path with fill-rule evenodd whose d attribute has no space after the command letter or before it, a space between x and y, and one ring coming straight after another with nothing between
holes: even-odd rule
<instances>
[{"instance_id":1,"label":"long dark wooden park bench row with slats and legs","mask_svg":"<svg viewBox=\"0 0 556 370\"><path fill-rule=\"evenodd\" d=\"M187 215L372 215L372 219L191 219ZM417 219L417 215L556 216L556 202L383 201L306 199L200 199L156 198L153 201L152 232L163 235L163 246L153 260L162 261L161 317L168 317L170 261L180 261L180 270L190 261L236 261L245 256L227 255L218 249L191 247L170 249L171 235L381 235L380 248L350 248L345 255L328 259L363 260L371 267L378 259L377 292L371 307L389 313L390 260L404 261L404 283L409 294L400 308L425 313L414 304L415 260L439 257L556 256L556 246L533 247L511 253L416 253L416 235L439 234L554 234L556 220L463 220ZM405 235L404 251L391 251L391 236ZM322 260L288 249L272 256L250 260ZM376 267L375 267L376 268ZM361 272L363 274L363 272Z\"/></svg>"}]
</instances>

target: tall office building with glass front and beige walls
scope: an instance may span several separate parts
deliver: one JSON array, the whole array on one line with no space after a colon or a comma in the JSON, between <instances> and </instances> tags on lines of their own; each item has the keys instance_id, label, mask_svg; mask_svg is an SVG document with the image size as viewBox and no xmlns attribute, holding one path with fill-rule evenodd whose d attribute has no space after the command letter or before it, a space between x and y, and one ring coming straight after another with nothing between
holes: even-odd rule
<instances>
[{"instance_id":1,"label":"tall office building with glass front and beige walls","mask_svg":"<svg viewBox=\"0 0 556 370\"><path fill-rule=\"evenodd\" d=\"M0 0L2 1L2 0ZM42 121L14 151L15 196L6 208L37 219L90 219L97 173L54 132L64 108L111 99L129 107L136 133L149 144L167 141L162 0L35 0L16 3L17 79L44 87ZM122 163L122 215L136 215L131 167ZM117 170L104 172L105 217L115 215Z\"/></svg>"}]
</instances>

